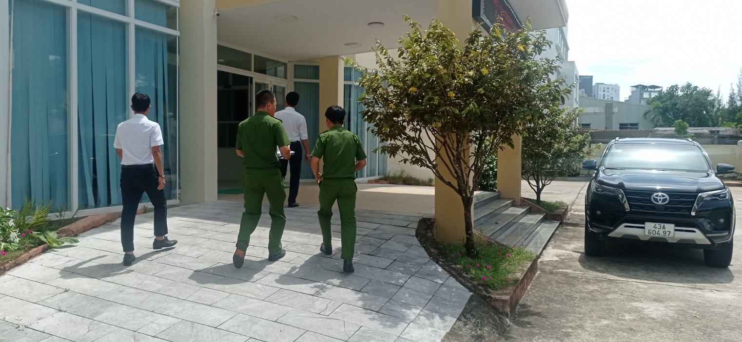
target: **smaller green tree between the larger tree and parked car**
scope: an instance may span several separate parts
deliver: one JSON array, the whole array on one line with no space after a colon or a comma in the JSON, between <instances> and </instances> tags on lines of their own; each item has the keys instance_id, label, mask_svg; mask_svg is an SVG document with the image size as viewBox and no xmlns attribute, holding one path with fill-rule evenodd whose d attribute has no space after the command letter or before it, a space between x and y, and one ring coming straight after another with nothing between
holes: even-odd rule
<instances>
[{"instance_id":1,"label":"smaller green tree between the larger tree and parked car","mask_svg":"<svg viewBox=\"0 0 742 342\"><path fill-rule=\"evenodd\" d=\"M522 178L536 192L536 202L554 178L574 172L595 150L588 149L590 135L574 125L580 112L554 104L541 118L525 125Z\"/></svg>"}]
</instances>

